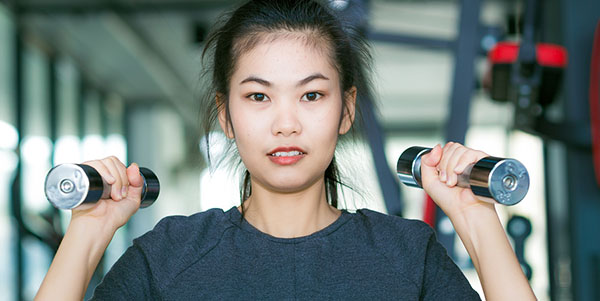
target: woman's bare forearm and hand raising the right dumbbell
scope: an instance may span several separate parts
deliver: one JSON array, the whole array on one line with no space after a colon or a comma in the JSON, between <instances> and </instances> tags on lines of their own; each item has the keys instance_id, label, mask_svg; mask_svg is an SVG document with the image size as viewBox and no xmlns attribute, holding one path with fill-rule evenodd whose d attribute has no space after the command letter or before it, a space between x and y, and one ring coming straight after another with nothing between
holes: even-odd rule
<instances>
[{"instance_id":1,"label":"woman's bare forearm and hand raising the right dumbbell","mask_svg":"<svg viewBox=\"0 0 600 301\"><path fill-rule=\"evenodd\" d=\"M487 156L458 143L423 157L423 187L448 215L471 256L487 300L535 300L493 204L456 186L465 167Z\"/></svg>"}]
</instances>

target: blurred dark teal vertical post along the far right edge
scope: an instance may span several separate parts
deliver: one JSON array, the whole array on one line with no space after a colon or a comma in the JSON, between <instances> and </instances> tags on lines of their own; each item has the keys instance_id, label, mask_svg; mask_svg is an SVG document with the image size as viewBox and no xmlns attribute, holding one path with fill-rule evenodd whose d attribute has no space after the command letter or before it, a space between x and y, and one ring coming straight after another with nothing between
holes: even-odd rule
<instances>
[{"instance_id":1,"label":"blurred dark teal vertical post along the far right edge","mask_svg":"<svg viewBox=\"0 0 600 301\"><path fill-rule=\"evenodd\" d=\"M561 2L563 43L568 49L569 66L565 74L563 98L567 123L584 121L589 128L589 70L596 22L600 20L600 2ZM590 150L567 145L564 154L568 196L568 223L571 230L571 284L575 300L600 298L600 188L595 182ZM547 172L556 162L546 160ZM550 233L549 233L550 235ZM551 271L552 273L553 271Z\"/></svg>"}]
</instances>

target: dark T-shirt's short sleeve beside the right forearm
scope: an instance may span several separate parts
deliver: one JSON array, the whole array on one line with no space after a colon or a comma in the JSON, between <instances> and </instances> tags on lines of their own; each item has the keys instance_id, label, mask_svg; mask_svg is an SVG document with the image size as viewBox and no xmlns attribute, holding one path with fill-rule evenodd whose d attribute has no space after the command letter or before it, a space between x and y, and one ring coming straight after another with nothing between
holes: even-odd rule
<instances>
[{"instance_id":1,"label":"dark T-shirt's short sleeve beside the right forearm","mask_svg":"<svg viewBox=\"0 0 600 301\"><path fill-rule=\"evenodd\" d=\"M425 256L421 300L481 300L433 233Z\"/></svg>"}]
</instances>

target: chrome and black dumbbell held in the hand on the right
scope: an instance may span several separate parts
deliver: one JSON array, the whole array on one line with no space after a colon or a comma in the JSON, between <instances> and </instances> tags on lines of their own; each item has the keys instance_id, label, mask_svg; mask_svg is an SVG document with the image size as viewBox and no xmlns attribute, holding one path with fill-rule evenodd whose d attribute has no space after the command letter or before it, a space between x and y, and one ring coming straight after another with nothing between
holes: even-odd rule
<instances>
[{"instance_id":1,"label":"chrome and black dumbbell held in the hand on the right","mask_svg":"<svg viewBox=\"0 0 600 301\"><path fill-rule=\"evenodd\" d=\"M413 146L406 149L396 165L400 181L408 186L422 188L421 157L431 148ZM470 188L481 200L502 205L515 205L529 190L529 173L515 159L485 157L470 164L458 175L459 187Z\"/></svg>"}]
</instances>

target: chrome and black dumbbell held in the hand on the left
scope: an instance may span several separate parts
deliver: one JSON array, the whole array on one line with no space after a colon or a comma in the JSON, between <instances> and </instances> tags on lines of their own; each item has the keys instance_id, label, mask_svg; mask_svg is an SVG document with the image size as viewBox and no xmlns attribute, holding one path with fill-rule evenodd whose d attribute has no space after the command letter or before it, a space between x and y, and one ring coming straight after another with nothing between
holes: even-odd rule
<instances>
[{"instance_id":1,"label":"chrome and black dumbbell held in the hand on the left","mask_svg":"<svg viewBox=\"0 0 600 301\"><path fill-rule=\"evenodd\" d=\"M140 208L145 208L158 198L160 183L148 168L140 167L140 174L144 179ZM111 185L89 165L60 164L46 175L46 198L58 209L73 209L81 204L110 198L110 190Z\"/></svg>"}]
</instances>

